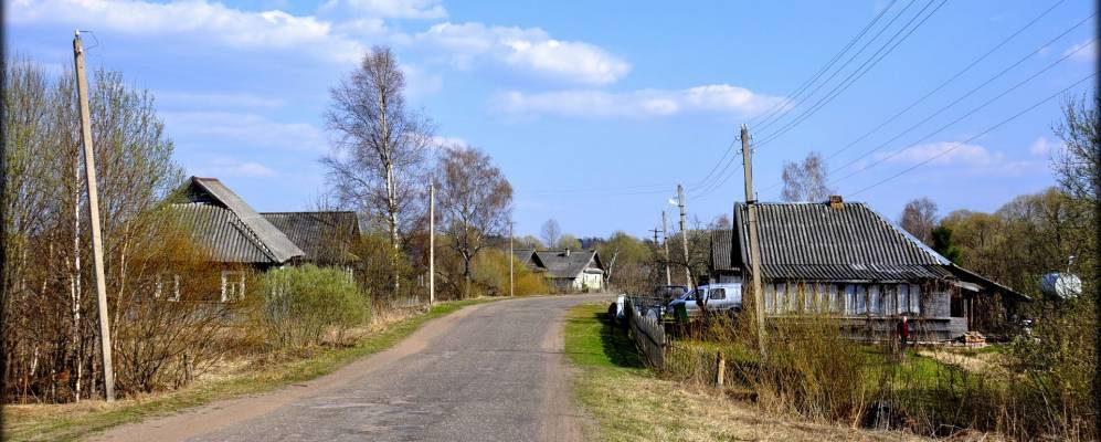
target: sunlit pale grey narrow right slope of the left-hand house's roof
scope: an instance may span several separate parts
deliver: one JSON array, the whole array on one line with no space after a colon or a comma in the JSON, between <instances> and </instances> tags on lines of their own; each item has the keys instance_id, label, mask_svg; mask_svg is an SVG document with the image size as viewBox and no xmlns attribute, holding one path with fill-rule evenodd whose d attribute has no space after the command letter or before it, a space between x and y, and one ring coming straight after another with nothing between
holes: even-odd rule
<instances>
[{"instance_id":1,"label":"sunlit pale grey narrow right slope of the left-hand house's roof","mask_svg":"<svg viewBox=\"0 0 1101 442\"><path fill-rule=\"evenodd\" d=\"M255 233L261 244L267 249L276 262L287 262L306 254L294 242L287 239L279 229L272 225L271 222L253 210L241 197L225 187L222 181L219 181L216 178L191 177L191 185L192 189L188 192L189 196L205 193L214 200L214 203L236 214L241 222Z\"/></svg>"}]
</instances>

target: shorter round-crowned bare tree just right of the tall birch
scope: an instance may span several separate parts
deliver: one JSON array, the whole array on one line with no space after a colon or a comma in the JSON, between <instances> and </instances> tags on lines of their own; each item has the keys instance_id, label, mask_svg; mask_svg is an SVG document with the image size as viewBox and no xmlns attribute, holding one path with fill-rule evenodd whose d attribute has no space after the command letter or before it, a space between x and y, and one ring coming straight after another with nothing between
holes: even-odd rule
<instances>
[{"instance_id":1,"label":"shorter round-crowned bare tree just right of the tall birch","mask_svg":"<svg viewBox=\"0 0 1101 442\"><path fill-rule=\"evenodd\" d=\"M463 260L464 296L470 294L470 263L508 229L512 186L488 155L472 147L447 150L440 165L440 209L447 245Z\"/></svg>"}]
</instances>

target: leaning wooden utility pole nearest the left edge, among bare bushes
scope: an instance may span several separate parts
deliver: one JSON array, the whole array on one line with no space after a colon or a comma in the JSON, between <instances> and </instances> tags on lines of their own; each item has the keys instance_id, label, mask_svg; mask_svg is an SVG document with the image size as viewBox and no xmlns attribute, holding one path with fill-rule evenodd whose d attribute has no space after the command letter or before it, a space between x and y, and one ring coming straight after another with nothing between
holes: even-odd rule
<instances>
[{"instance_id":1,"label":"leaning wooden utility pole nearest the left edge, among bare bushes","mask_svg":"<svg viewBox=\"0 0 1101 442\"><path fill-rule=\"evenodd\" d=\"M103 239L99 236L99 190L96 188L96 160L92 149L92 117L88 109L88 77L84 73L84 44L81 31L73 39L76 59L76 91L81 107L81 139L84 143L84 176L88 190L88 215L92 224L92 261L96 270L96 299L99 306L99 348L103 352L103 385L107 402L115 400L115 370L110 364L110 325L107 323L107 287L103 271Z\"/></svg>"}]
</instances>

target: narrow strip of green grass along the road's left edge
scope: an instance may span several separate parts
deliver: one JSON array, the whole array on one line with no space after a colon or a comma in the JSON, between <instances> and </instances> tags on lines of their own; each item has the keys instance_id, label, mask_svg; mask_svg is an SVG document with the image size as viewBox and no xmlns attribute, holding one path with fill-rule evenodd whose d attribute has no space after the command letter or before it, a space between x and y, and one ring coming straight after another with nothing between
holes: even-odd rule
<instances>
[{"instance_id":1,"label":"narrow strip of green grass along the road's left edge","mask_svg":"<svg viewBox=\"0 0 1101 442\"><path fill-rule=\"evenodd\" d=\"M428 313L398 322L380 333L363 337L353 346L325 349L305 359L267 367L247 376L186 388L151 399L124 400L112 406L104 404L100 410L56 412L49 415L21 417L6 411L3 439L12 441L78 440L115 425L203 406L220 399L271 391L295 382L315 379L356 359L392 347L431 319L472 304L488 301L494 299L440 303L433 306Z\"/></svg>"}]
</instances>

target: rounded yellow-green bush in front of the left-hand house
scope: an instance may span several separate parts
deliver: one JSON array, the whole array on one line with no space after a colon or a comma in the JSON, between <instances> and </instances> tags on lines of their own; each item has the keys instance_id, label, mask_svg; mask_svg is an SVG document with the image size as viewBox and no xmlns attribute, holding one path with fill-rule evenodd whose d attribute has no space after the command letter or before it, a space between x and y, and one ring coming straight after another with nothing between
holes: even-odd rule
<instances>
[{"instance_id":1,"label":"rounded yellow-green bush in front of the left-hand house","mask_svg":"<svg viewBox=\"0 0 1101 442\"><path fill-rule=\"evenodd\" d=\"M356 283L338 269L274 270L261 276L258 292L258 324L279 348L319 345L334 329L342 336L368 313Z\"/></svg>"}]
</instances>

